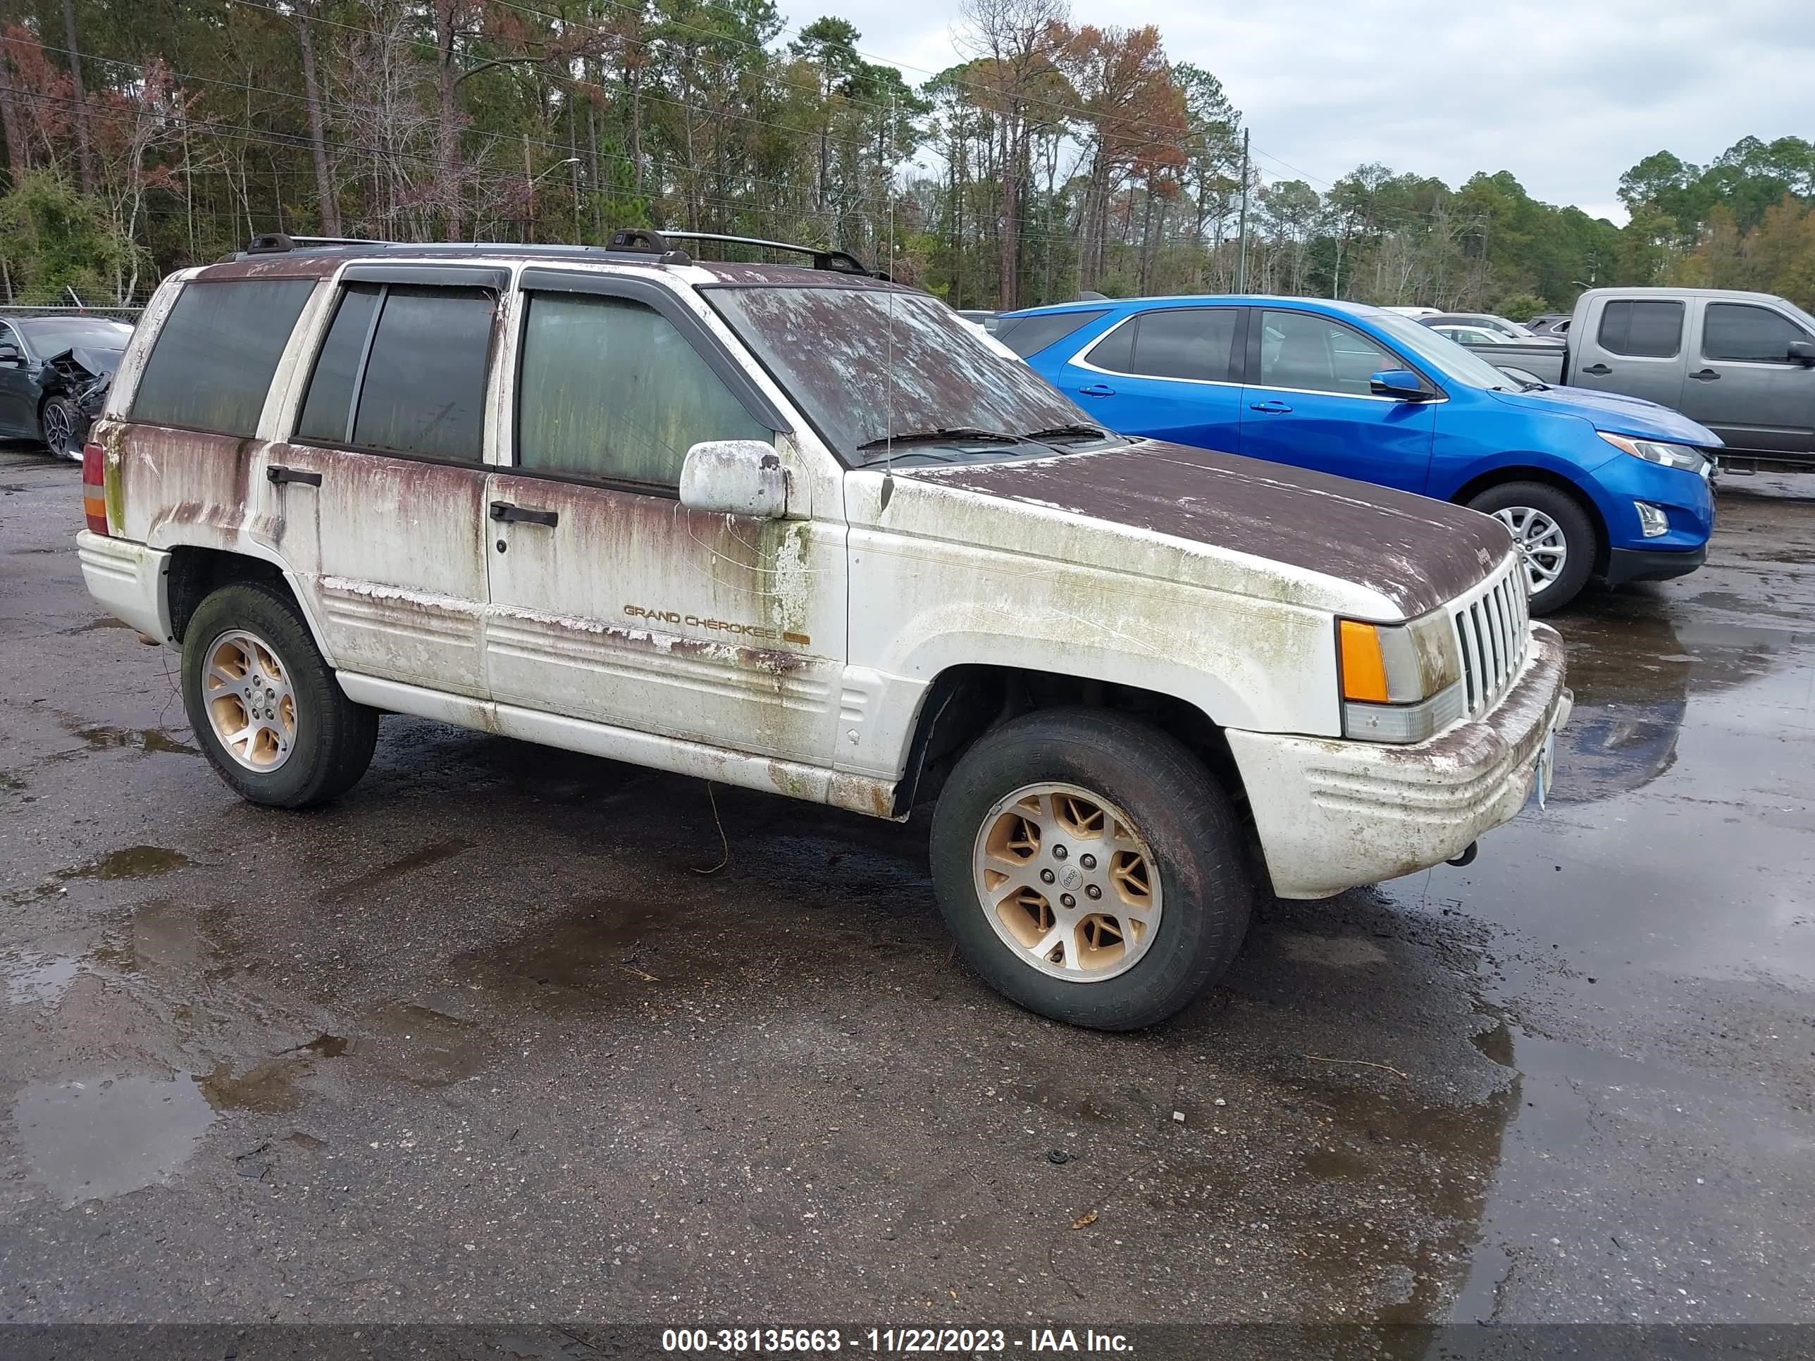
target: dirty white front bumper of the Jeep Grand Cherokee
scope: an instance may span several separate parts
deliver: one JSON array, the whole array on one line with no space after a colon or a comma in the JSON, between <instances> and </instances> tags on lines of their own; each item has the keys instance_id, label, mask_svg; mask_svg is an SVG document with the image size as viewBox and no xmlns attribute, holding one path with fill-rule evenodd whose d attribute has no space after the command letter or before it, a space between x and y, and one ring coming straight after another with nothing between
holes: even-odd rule
<instances>
[{"instance_id":1,"label":"dirty white front bumper of the Jeep Grand Cherokee","mask_svg":"<svg viewBox=\"0 0 1815 1361\"><path fill-rule=\"evenodd\" d=\"M1274 893L1327 898L1461 855L1525 808L1539 748L1572 702L1563 639L1532 624L1499 704L1428 742L1229 731Z\"/></svg>"}]
</instances>

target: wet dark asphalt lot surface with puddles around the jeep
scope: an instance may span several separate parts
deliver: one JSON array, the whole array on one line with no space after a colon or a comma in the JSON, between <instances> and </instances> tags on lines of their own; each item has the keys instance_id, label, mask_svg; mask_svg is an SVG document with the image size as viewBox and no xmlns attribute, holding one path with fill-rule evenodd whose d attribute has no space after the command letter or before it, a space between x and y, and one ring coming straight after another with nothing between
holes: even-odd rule
<instances>
[{"instance_id":1,"label":"wet dark asphalt lot surface with puddles around the jeep","mask_svg":"<svg viewBox=\"0 0 1815 1361\"><path fill-rule=\"evenodd\" d=\"M1557 621L1545 811L1136 1036L918 824L399 717L241 804L78 481L0 450L0 1321L1815 1321L1815 479Z\"/></svg>"}]
</instances>

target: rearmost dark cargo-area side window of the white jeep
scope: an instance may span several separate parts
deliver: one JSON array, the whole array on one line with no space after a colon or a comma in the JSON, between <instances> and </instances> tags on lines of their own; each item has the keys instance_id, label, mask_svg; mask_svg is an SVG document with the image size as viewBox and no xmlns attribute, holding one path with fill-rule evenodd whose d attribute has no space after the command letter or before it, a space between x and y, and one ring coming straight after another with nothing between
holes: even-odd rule
<instances>
[{"instance_id":1,"label":"rearmost dark cargo-area side window of the white jeep","mask_svg":"<svg viewBox=\"0 0 1815 1361\"><path fill-rule=\"evenodd\" d=\"M152 341L132 419L256 434L270 377L314 289L312 279L185 283Z\"/></svg>"}]
</instances>

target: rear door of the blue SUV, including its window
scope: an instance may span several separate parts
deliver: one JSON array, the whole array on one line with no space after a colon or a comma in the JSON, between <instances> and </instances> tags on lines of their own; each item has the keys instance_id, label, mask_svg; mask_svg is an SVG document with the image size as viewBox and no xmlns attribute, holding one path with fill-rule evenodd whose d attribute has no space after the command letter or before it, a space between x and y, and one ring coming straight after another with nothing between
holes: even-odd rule
<instances>
[{"instance_id":1,"label":"rear door of the blue SUV, including its window","mask_svg":"<svg viewBox=\"0 0 1815 1361\"><path fill-rule=\"evenodd\" d=\"M1125 436L1236 454L1241 385L1231 374L1241 307L1138 312L1065 367L1060 388Z\"/></svg>"}]
</instances>

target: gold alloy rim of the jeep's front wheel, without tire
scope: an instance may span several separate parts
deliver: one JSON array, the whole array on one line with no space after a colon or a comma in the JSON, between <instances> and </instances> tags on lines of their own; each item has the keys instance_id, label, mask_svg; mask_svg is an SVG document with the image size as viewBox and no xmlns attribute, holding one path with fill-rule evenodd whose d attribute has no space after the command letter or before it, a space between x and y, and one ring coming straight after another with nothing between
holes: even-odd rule
<instances>
[{"instance_id":1,"label":"gold alloy rim of the jeep's front wheel, without tire","mask_svg":"<svg viewBox=\"0 0 1815 1361\"><path fill-rule=\"evenodd\" d=\"M976 898L1024 964L1076 984L1133 969L1160 929L1160 866L1129 817L1074 784L998 798L971 855Z\"/></svg>"}]
</instances>

